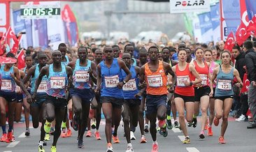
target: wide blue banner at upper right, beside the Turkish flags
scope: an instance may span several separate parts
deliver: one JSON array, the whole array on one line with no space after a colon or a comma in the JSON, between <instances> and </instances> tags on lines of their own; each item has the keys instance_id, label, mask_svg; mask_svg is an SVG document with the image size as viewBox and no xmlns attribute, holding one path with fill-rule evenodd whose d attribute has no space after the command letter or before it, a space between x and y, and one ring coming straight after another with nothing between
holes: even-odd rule
<instances>
[{"instance_id":1,"label":"wide blue banner at upper right, beside the Turkish flags","mask_svg":"<svg viewBox=\"0 0 256 152\"><path fill-rule=\"evenodd\" d=\"M239 0L221 0L222 4L222 40L227 39L229 33L236 33L237 27L241 24L241 9Z\"/></svg>"}]
</instances>

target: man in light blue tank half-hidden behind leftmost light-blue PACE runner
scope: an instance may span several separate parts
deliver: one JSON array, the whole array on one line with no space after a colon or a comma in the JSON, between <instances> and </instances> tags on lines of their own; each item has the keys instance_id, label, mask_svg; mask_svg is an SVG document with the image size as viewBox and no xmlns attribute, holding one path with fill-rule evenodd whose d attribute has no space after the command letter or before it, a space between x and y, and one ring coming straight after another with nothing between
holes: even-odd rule
<instances>
[{"instance_id":1,"label":"man in light blue tank half-hidden behind leftmost light-blue PACE runner","mask_svg":"<svg viewBox=\"0 0 256 152\"><path fill-rule=\"evenodd\" d=\"M21 83L21 88L25 89L26 87L24 86L24 84L27 84L27 82L29 82L31 80L30 81L31 82L31 94L34 94L35 86L36 86L36 79L38 78L41 69L45 66L45 64L47 62L47 56L43 52L39 53L37 55L37 58L38 58L38 64L29 68L29 70L27 71L27 75L24 76L24 78L22 79L22 83ZM43 126L45 123L45 118L43 118L42 114L43 114L43 110L44 110L44 106L45 106L45 98L47 96L46 80L47 80L47 77L45 75L45 76L43 76L41 84L38 86L35 102L30 104L30 111L31 111L31 116L32 116L33 127L38 128L39 122L42 123L41 136L40 136L40 141L38 144L38 151L44 151L43 150L43 143L44 143L43 139L45 137L45 131L43 130ZM29 94L28 91L25 93Z\"/></svg>"}]
</instances>

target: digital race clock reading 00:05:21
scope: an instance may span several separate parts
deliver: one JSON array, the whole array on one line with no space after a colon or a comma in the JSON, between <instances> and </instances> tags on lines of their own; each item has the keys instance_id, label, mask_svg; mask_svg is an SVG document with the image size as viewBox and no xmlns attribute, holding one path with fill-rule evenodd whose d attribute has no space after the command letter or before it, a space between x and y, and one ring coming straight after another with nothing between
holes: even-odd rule
<instances>
[{"instance_id":1,"label":"digital race clock reading 00:05:21","mask_svg":"<svg viewBox=\"0 0 256 152\"><path fill-rule=\"evenodd\" d=\"M60 5L22 5L20 6L20 17L22 19L45 19L59 17Z\"/></svg>"}]
</instances>

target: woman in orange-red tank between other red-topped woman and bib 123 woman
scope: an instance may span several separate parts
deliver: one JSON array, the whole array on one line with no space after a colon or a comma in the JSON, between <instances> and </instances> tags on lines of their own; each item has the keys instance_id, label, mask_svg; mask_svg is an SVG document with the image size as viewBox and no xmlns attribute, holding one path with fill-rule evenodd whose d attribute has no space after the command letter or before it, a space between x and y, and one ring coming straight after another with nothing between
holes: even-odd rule
<instances>
[{"instance_id":1,"label":"woman in orange-red tank between other red-topped woman and bib 123 woman","mask_svg":"<svg viewBox=\"0 0 256 152\"><path fill-rule=\"evenodd\" d=\"M209 93L211 92L208 78L211 77L209 73L208 67L210 63L206 63L203 61L204 58L204 50L201 47L198 47L195 50L196 60L190 63L190 65L194 66L199 73L199 76L202 79L201 84L194 85L194 114L193 121L188 124L188 126L192 126L195 128L197 126L197 116L199 114L199 105L201 103L201 132L199 135L200 139L204 139L204 128L206 126L207 121L207 109L209 105Z\"/></svg>"}]
</instances>

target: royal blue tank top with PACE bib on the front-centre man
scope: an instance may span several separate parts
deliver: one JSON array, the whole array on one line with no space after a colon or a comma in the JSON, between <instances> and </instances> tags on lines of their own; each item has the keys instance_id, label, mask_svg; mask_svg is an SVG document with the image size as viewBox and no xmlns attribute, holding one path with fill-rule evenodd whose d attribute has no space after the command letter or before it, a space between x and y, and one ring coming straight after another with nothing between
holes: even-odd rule
<instances>
[{"instance_id":1,"label":"royal blue tank top with PACE bib on the front-centre man","mask_svg":"<svg viewBox=\"0 0 256 152\"><path fill-rule=\"evenodd\" d=\"M118 89L118 82L122 82L122 71L118 59L114 58L111 67L108 68L104 61L101 61L101 96L113 98L124 98L122 89Z\"/></svg>"}]
</instances>

